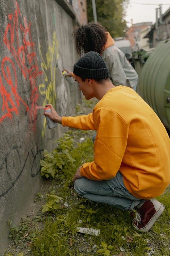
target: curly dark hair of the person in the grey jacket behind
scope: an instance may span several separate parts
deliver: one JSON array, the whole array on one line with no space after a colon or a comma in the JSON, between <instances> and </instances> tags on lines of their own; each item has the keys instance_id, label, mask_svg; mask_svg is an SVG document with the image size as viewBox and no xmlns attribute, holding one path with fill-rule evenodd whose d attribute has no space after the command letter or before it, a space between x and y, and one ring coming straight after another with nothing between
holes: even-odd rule
<instances>
[{"instance_id":1,"label":"curly dark hair of the person in the grey jacket behind","mask_svg":"<svg viewBox=\"0 0 170 256\"><path fill-rule=\"evenodd\" d=\"M77 53L81 56L84 53L95 51L102 53L107 41L107 30L99 23L90 22L78 27L74 31L74 38Z\"/></svg>"}]
</instances>

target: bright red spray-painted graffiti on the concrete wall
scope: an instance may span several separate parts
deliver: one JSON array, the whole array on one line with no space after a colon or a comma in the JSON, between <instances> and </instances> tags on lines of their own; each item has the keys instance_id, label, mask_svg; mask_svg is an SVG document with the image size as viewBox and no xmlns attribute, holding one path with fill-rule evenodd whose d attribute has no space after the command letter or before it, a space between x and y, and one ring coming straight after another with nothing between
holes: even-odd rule
<instances>
[{"instance_id":1,"label":"bright red spray-painted graffiti on the concrete wall","mask_svg":"<svg viewBox=\"0 0 170 256\"><path fill-rule=\"evenodd\" d=\"M33 130L35 130L36 120L36 103L38 100L38 90L36 86L36 77L43 74L38 69L38 63L36 53L34 50L34 42L32 41L30 27L31 22L27 23L26 17L23 17L20 13L18 4L16 2L16 9L14 14L8 14L9 23L6 26L3 42L9 49L17 62L17 68L22 72L22 75L26 81L30 81L30 98L26 103L17 93L17 75L16 67L13 61L4 57L2 60L2 74L5 80L4 85L2 77L0 76L0 94L2 96L2 116L0 116L0 122L6 117L12 118L11 113L18 114L20 108L20 102L25 106L26 111L29 112L30 123L33 124Z\"/></svg>"}]
</instances>

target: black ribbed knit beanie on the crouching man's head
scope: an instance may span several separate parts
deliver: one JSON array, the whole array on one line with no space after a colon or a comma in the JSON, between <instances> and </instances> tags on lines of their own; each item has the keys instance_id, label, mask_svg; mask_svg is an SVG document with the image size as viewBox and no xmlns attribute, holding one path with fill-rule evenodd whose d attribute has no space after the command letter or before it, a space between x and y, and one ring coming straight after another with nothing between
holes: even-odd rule
<instances>
[{"instance_id":1,"label":"black ribbed knit beanie on the crouching man's head","mask_svg":"<svg viewBox=\"0 0 170 256\"><path fill-rule=\"evenodd\" d=\"M74 64L74 75L82 78L103 79L108 78L109 70L103 57L97 52L84 54L77 63Z\"/></svg>"}]
</instances>

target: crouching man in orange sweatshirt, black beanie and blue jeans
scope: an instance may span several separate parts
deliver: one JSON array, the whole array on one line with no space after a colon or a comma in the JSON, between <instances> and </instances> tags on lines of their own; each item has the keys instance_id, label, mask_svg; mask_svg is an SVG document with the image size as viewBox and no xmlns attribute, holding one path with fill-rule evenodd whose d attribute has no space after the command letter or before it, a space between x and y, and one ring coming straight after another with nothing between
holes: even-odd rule
<instances>
[{"instance_id":1,"label":"crouching man in orange sweatshirt, black beanie and blue jeans","mask_svg":"<svg viewBox=\"0 0 170 256\"><path fill-rule=\"evenodd\" d=\"M74 175L79 195L136 216L132 225L148 231L164 211L154 199L170 183L170 139L150 106L131 88L114 86L102 56L84 54L74 65L75 80L87 100L96 97L93 113L61 117L45 113L63 126L96 130L94 161ZM133 215L133 214L131 214Z\"/></svg>"}]
</instances>

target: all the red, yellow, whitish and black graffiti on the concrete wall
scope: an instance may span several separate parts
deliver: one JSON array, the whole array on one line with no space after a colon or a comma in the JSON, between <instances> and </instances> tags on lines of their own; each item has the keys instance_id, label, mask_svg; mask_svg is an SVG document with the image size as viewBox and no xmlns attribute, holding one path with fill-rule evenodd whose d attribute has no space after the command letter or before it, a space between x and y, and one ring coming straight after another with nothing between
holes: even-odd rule
<instances>
[{"instance_id":1,"label":"all the red, yellow, whitish and black graffiti on the concrete wall","mask_svg":"<svg viewBox=\"0 0 170 256\"><path fill-rule=\"evenodd\" d=\"M60 112L62 114L66 112L68 97L59 68L63 65L58 53L58 41L54 32L51 45L48 44L47 48L42 47L42 49L40 47L41 71L38 68L35 43L31 37L31 22L28 22L22 15L17 1L14 12L8 14L7 18L8 23L4 28L2 42L6 51L4 51L4 56L1 56L0 62L0 124L7 118L11 120L15 118L16 121L16 116L19 115L22 108L29 116L30 128L35 131L37 110L40 108L37 106L38 95L43 98L44 106L47 103L55 106L56 95L58 95L62 102ZM44 83L37 85L37 78L40 75L44 76ZM23 83L21 84L19 81L23 81ZM56 89L56 85L58 89ZM44 118L44 120L43 132L46 125L46 119ZM22 134L19 120L16 130L18 130L18 134ZM54 130L51 131L51 134L53 132ZM23 145L19 139L13 145L11 141L8 142L7 134L5 136L5 143L8 143L9 146L5 148L6 152L3 152L4 156L0 161L0 198L13 188L23 171L30 170L30 176L35 177L40 171L39 160L43 159L42 138L41 145L36 143L30 148L29 145L28 147ZM29 138L26 141L28 140Z\"/></svg>"}]
</instances>

